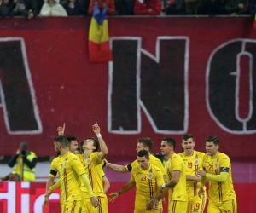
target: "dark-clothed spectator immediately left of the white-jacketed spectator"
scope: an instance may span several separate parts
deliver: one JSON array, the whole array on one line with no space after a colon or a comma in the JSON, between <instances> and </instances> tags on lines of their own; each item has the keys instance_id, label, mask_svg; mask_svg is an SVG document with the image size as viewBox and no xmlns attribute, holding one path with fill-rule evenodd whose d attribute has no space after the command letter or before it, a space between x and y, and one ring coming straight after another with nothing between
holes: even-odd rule
<instances>
[{"instance_id":1,"label":"dark-clothed spectator immediately left of the white-jacketed spectator","mask_svg":"<svg viewBox=\"0 0 256 213\"><path fill-rule=\"evenodd\" d=\"M38 15L37 0L14 0L15 9L10 13L11 16L25 16L32 19Z\"/></svg>"}]
</instances>

